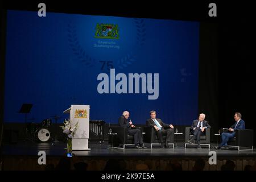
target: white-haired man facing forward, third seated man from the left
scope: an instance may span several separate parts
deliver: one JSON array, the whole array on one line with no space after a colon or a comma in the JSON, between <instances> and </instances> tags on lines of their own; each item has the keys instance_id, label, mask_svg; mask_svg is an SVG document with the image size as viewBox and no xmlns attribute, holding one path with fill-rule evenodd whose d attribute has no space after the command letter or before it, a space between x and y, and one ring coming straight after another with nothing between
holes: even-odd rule
<instances>
[{"instance_id":1,"label":"white-haired man facing forward, third seated man from the left","mask_svg":"<svg viewBox=\"0 0 256 182\"><path fill-rule=\"evenodd\" d=\"M201 135L205 135L205 129L210 128L210 125L208 124L205 119L205 114L201 113L199 114L198 120L194 120L191 125L191 134L193 134L193 137L188 140L189 143L195 143L195 140L197 140L197 148L201 148L200 146L200 137Z\"/></svg>"}]
</instances>

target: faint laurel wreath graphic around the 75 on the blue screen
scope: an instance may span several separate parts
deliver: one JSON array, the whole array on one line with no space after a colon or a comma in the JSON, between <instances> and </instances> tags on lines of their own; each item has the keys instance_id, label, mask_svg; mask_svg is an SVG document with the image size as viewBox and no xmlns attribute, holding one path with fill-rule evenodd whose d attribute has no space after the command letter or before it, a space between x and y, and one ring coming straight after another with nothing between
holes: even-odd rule
<instances>
[{"instance_id":1,"label":"faint laurel wreath graphic around the 75 on the blue screen","mask_svg":"<svg viewBox=\"0 0 256 182\"><path fill-rule=\"evenodd\" d=\"M143 46L146 36L146 28L143 19L134 18L135 26L137 28L136 44L138 49ZM96 64L96 60L90 57L84 49L81 47L77 38L76 27L73 23L68 24L68 41L73 53L77 56L77 59L81 60L87 67L93 67ZM127 53L124 57L117 60L118 68L123 69L132 64L135 59L134 53Z\"/></svg>"}]
</instances>

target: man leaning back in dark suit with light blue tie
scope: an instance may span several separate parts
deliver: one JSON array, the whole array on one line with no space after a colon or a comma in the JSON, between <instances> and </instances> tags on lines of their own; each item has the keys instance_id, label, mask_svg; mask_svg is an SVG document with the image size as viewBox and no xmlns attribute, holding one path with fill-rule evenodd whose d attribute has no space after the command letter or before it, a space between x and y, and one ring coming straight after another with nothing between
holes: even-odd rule
<instances>
[{"instance_id":1,"label":"man leaning back in dark suit with light blue tie","mask_svg":"<svg viewBox=\"0 0 256 182\"><path fill-rule=\"evenodd\" d=\"M150 117L151 117L150 119L147 119L146 125L148 127L155 128L155 133L160 140L162 148L164 147L170 148L170 146L168 146L168 142L171 141L172 133L174 133L174 126L167 125L161 119L156 118L156 111L154 110L150 111ZM163 142L163 135L166 135L165 145Z\"/></svg>"}]
</instances>

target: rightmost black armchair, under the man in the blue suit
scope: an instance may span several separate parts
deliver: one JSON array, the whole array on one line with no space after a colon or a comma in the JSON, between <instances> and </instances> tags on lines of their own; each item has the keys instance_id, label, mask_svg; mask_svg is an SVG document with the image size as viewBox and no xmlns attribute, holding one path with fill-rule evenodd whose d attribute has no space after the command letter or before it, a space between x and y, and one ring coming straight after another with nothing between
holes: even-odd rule
<instances>
[{"instance_id":1,"label":"rightmost black armchair, under the man in the blue suit","mask_svg":"<svg viewBox=\"0 0 256 182\"><path fill-rule=\"evenodd\" d=\"M230 132L226 129L221 129L221 133ZM229 148L237 148L240 150L253 150L253 130L245 129L245 130L235 130L236 134L234 138L228 141ZM241 149L241 147L245 149ZM249 147L249 148L248 148Z\"/></svg>"}]
</instances>

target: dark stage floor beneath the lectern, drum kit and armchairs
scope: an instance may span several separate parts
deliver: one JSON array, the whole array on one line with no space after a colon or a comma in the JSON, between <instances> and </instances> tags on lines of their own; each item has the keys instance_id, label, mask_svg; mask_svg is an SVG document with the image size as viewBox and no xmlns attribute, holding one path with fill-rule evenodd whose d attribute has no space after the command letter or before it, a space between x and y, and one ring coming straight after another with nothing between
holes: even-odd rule
<instances>
[{"instance_id":1,"label":"dark stage floor beneath the lectern, drum kit and armchairs","mask_svg":"<svg viewBox=\"0 0 256 182\"><path fill-rule=\"evenodd\" d=\"M2 155L38 155L39 151L45 151L48 156L63 156L65 154L65 143L34 143L34 142L19 142L16 144L5 144L3 146ZM100 144L98 142L90 142L90 151L73 151L76 156L85 157L161 157L161 158L193 158L193 157L209 157L209 151L216 151L218 157L223 158L255 158L256 150L254 151L238 151L236 149L230 150L215 150L213 147L216 144L211 144L210 148L197 149L195 147L184 147L184 143L177 143L175 148L160 148L153 147L148 149L136 149L127 147L124 150L120 148L109 148L108 142ZM205 147L205 146L202 146Z\"/></svg>"}]
</instances>

